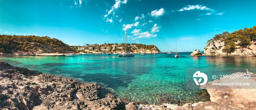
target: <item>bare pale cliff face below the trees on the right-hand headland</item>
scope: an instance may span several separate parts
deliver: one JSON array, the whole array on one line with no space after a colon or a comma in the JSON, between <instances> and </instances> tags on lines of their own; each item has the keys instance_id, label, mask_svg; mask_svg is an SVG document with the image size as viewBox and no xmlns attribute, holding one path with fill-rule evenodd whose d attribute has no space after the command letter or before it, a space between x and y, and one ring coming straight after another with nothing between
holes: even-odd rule
<instances>
[{"instance_id":1,"label":"bare pale cliff face below the trees on the right-hand headland","mask_svg":"<svg viewBox=\"0 0 256 110\"><path fill-rule=\"evenodd\" d=\"M238 43L240 41L235 42L236 49L234 49L231 53L223 52L222 50L225 48L225 43L222 39L212 41L207 43L204 48L204 55L233 55L233 56L253 56L256 54L256 41L252 41L248 46L242 47L239 46Z\"/></svg>"}]
</instances>

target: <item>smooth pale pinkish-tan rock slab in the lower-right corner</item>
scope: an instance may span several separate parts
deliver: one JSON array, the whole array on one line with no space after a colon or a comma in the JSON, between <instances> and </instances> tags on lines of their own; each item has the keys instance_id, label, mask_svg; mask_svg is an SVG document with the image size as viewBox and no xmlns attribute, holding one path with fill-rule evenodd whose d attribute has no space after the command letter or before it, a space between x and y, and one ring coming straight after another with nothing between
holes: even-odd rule
<instances>
[{"instance_id":1,"label":"smooth pale pinkish-tan rock slab in the lower-right corner","mask_svg":"<svg viewBox=\"0 0 256 110\"><path fill-rule=\"evenodd\" d=\"M242 72L231 75L244 75ZM212 83L250 83L249 86L213 86ZM249 73L246 79L218 79L201 86L210 94L211 102L232 107L231 110L256 110L256 77ZM224 109L223 109L224 110ZM227 110L227 109L225 109Z\"/></svg>"}]
</instances>

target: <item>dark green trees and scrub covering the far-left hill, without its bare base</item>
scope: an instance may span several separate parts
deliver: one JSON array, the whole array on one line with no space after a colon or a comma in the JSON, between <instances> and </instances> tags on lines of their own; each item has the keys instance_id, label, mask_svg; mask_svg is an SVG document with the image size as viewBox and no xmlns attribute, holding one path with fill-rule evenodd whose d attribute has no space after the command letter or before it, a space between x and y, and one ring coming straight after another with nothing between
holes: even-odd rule
<instances>
[{"instance_id":1,"label":"dark green trees and scrub covering the far-left hill, without its bare base","mask_svg":"<svg viewBox=\"0 0 256 110\"><path fill-rule=\"evenodd\" d=\"M30 42L35 42L31 47ZM59 39L50 38L48 36L39 37L35 35L0 35L0 53L13 53L18 50L27 52L28 50L40 48L41 45L50 45L53 48L69 47L69 45L63 43ZM41 50L45 50L40 48Z\"/></svg>"}]
</instances>

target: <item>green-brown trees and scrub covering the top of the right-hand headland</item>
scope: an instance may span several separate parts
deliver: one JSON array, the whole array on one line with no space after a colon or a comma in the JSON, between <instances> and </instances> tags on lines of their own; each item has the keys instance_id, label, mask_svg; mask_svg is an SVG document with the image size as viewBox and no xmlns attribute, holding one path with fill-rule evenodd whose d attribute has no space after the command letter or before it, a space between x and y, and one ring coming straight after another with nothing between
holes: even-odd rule
<instances>
[{"instance_id":1,"label":"green-brown trees and scrub covering the top of the right-hand headland","mask_svg":"<svg viewBox=\"0 0 256 110\"><path fill-rule=\"evenodd\" d=\"M215 35L215 37L208 40L207 43L210 45L210 43L217 40L221 42L224 41L225 43L225 47L222 52L234 52L236 45L246 48L251 41L256 41L256 26L253 26L252 28L244 28L244 30L240 29L231 34L229 32L223 32L222 34Z\"/></svg>"}]
</instances>

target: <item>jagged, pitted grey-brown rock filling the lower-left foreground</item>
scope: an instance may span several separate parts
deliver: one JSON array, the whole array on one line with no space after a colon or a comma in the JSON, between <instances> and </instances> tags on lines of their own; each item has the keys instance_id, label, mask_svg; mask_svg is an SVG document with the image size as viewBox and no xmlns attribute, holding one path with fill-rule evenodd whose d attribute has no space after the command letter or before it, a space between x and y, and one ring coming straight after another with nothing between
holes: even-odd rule
<instances>
[{"instance_id":1,"label":"jagged, pitted grey-brown rock filling the lower-left foreground","mask_svg":"<svg viewBox=\"0 0 256 110\"><path fill-rule=\"evenodd\" d=\"M99 99L101 86L41 74L0 62L0 109L11 110L122 110L111 94Z\"/></svg>"}]
</instances>

